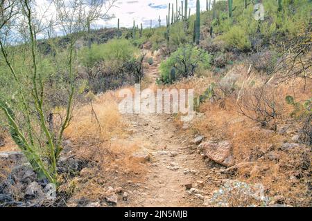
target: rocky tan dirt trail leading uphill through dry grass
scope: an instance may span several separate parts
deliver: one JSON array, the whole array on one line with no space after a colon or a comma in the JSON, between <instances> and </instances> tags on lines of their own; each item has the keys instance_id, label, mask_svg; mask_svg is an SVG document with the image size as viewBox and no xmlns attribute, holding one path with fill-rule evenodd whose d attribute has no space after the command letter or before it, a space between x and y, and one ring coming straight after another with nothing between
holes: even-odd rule
<instances>
[{"instance_id":1,"label":"rocky tan dirt trail leading uphill through dry grass","mask_svg":"<svg viewBox=\"0 0 312 221\"><path fill-rule=\"evenodd\" d=\"M158 77L158 64L155 61L146 70L148 78L153 80L150 87ZM193 137L178 131L171 115L128 115L126 119L133 131L131 142L148 150L150 162L146 162L145 182L123 206L202 206L203 199L189 195L184 186L205 180L207 175L202 158L189 146Z\"/></svg>"}]
</instances>

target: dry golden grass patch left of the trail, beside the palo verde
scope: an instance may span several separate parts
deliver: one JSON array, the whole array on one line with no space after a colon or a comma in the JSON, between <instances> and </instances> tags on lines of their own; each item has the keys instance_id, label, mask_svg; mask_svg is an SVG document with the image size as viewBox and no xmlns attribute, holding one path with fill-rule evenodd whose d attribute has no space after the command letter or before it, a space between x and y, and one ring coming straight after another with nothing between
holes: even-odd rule
<instances>
[{"instance_id":1,"label":"dry golden grass patch left of the trail, beside the palo verde","mask_svg":"<svg viewBox=\"0 0 312 221\"><path fill-rule=\"evenodd\" d=\"M70 201L101 200L107 186L115 188L127 184L128 180L136 182L145 173L141 162L131 157L139 147L125 142L128 125L119 113L117 105L121 98L118 95L118 90L109 91L96 97L93 108L87 104L73 113L65 135L72 142L71 153L89 161L90 166L63 186L63 192L71 193Z\"/></svg>"}]
</instances>

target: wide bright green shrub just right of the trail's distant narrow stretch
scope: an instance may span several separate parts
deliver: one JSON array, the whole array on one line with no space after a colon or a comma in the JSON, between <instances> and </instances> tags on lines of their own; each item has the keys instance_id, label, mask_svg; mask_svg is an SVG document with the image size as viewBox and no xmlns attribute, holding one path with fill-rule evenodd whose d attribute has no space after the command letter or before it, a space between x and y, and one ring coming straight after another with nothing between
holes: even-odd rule
<instances>
[{"instance_id":1,"label":"wide bright green shrub just right of the trail's distant narrow stretch","mask_svg":"<svg viewBox=\"0 0 312 221\"><path fill-rule=\"evenodd\" d=\"M159 81L163 84L171 83L173 68L175 70L175 79L193 76L196 68L209 68L211 56L200 48L185 45L173 52L173 54L160 64L161 77Z\"/></svg>"}]
</instances>

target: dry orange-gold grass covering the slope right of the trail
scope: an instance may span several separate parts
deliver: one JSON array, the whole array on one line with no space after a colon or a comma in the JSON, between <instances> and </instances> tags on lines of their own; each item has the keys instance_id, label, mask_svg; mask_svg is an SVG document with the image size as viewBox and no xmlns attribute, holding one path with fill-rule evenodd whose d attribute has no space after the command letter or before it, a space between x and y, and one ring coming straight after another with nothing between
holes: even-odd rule
<instances>
[{"instance_id":1,"label":"dry orange-gold grass covering the slope right of the trail","mask_svg":"<svg viewBox=\"0 0 312 221\"><path fill-rule=\"evenodd\" d=\"M246 68L239 68L244 70ZM236 84L241 88L247 75L239 77ZM258 90L263 79L254 74L252 77L256 84L243 89L243 99L252 99L251 90ZM202 93L200 88L206 88L209 82L218 82L218 79L193 79L182 81L179 88L196 88L196 93ZM201 82L204 82L202 86ZM200 84L200 86L198 86ZM205 85L206 84L206 85ZM197 88L198 87L198 88ZM304 102L311 98L311 82L300 79L274 85L274 93L277 95L279 116L277 124L291 124L298 131L300 120L291 117L295 110L293 105L286 104L286 95L291 95L296 102ZM266 195L273 197L283 195L282 202L293 206L311 206L311 191L309 191L309 176L311 174L311 148L309 146L293 148L290 151L281 151L279 147L284 142L292 142L290 135L281 135L275 131L262 128L258 122L249 119L239 113L236 103L237 93L223 97L220 90L216 89L218 99L211 103L205 102L200 106L200 113L205 116L193 122L190 133L205 135L207 140L228 140L232 143L233 155L236 164L241 164L234 173L234 179L247 183L261 183L265 186ZM268 93L273 93L269 91ZM177 126L182 126L181 122ZM276 159L268 159L266 155L275 154Z\"/></svg>"}]
</instances>

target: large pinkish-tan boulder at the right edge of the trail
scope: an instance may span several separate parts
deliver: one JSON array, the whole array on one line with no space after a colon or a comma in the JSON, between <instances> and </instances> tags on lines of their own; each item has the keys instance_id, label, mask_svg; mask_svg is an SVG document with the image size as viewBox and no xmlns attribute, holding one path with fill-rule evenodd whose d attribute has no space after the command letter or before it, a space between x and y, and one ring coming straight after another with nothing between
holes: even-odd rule
<instances>
[{"instance_id":1,"label":"large pinkish-tan boulder at the right edge of the trail","mask_svg":"<svg viewBox=\"0 0 312 221\"><path fill-rule=\"evenodd\" d=\"M227 142L205 142L200 144L200 150L210 160L221 164L223 166L232 166L234 164L234 158L232 156L232 145Z\"/></svg>"}]
</instances>

